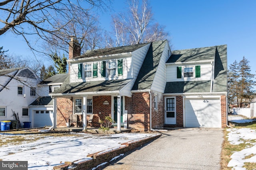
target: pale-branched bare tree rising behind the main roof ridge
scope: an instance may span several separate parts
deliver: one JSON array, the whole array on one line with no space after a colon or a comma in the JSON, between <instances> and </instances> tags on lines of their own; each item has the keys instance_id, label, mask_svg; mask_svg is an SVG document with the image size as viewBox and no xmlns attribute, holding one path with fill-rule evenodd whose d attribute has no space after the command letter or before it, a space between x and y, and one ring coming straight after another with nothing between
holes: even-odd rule
<instances>
[{"instance_id":1,"label":"pale-branched bare tree rising behind the main roof ridge","mask_svg":"<svg viewBox=\"0 0 256 170\"><path fill-rule=\"evenodd\" d=\"M112 16L116 46L163 40L168 37L165 26L154 23L148 0L127 1L128 12Z\"/></svg>"}]
</instances>

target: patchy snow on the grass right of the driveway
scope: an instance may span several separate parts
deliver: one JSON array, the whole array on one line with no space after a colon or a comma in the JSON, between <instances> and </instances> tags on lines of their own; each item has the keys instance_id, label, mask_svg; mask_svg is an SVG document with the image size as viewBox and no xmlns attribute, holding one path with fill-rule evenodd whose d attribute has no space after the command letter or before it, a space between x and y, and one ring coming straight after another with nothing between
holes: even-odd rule
<instances>
[{"instance_id":1,"label":"patchy snow on the grass right of the driveway","mask_svg":"<svg viewBox=\"0 0 256 170\"><path fill-rule=\"evenodd\" d=\"M245 120L252 120L253 119L244 119L241 120L240 116L229 116L228 120L230 118L234 119L234 121L240 120L240 122L247 122ZM251 140L256 140L256 130L250 129L250 128L242 128L242 129L227 129L230 133L228 133L228 141L232 145L239 145L241 143L246 143L248 146L238 152L234 152L230 158L230 162L228 163L228 167L233 167L233 170L246 170L246 168L243 168L244 162L256 162L256 143ZM249 156L251 155L251 156ZM246 156L249 156L246 158Z\"/></svg>"}]
</instances>

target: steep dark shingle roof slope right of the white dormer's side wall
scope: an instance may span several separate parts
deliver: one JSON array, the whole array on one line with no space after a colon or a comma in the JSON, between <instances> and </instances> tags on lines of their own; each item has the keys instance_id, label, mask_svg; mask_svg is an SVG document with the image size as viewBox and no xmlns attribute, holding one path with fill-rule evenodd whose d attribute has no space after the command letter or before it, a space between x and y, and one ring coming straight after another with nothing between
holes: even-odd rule
<instances>
[{"instance_id":1,"label":"steep dark shingle roof slope right of the white dormer's side wall","mask_svg":"<svg viewBox=\"0 0 256 170\"><path fill-rule=\"evenodd\" d=\"M151 88L166 43L167 40L164 40L153 42L150 45L132 90Z\"/></svg>"}]
</instances>

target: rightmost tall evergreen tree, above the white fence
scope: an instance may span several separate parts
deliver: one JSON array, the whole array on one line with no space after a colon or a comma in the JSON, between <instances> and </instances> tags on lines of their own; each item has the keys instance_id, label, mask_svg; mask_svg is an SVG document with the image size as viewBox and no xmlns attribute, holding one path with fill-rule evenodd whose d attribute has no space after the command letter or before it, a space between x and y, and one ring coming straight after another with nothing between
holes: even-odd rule
<instances>
[{"instance_id":1,"label":"rightmost tall evergreen tree, above the white fence","mask_svg":"<svg viewBox=\"0 0 256 170\"><path fill-rule=\"evenodd\" d=\"M255 74L251 74L251 67L249 66L250 61L248 61L245 57L239 62L239 72L240 72L240 107L242 107L243 101L250 101L254 98L255 90L253 90L256 82L253 81Z\"/></svg>"}]
</instances>

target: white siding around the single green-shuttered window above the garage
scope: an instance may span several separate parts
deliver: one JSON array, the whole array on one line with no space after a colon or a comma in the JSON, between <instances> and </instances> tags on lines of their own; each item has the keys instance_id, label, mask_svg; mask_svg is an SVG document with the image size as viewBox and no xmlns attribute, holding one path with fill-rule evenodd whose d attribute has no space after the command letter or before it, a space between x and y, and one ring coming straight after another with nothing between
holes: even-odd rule
<instances>
[{"instance_id":1,"label":"white siding around the single green-shuttered window above the garage","mask_svg":"<svg viewBox=\"0 0 256 170\"><path fill-rule=\"evenodd\" d=\"M186 66L196 66L200 65L201 77L200 78L177 78L177 67L185 66L184 64L167 64L166 65L166 80L167 82L178 82L178 81L197 81L197 80L211 80L212 78L212 65L210 63L198 63L198 64L189 64ZM182 68L183 71L183 68Z\"/></svg>"}]
</instances>

